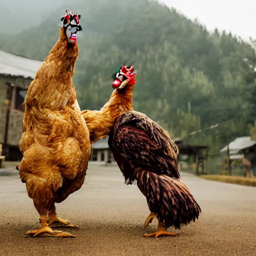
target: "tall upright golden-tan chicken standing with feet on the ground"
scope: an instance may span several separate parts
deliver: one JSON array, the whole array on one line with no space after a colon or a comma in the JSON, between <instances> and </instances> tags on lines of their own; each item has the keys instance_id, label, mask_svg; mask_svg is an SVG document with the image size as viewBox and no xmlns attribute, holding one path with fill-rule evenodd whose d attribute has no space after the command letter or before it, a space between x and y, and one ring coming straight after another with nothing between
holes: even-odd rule
<instances>
[{"instance_id":1,"label":"tall upright golden-tan chicken standing with feet on the ground","mask_svg":"<svg viewBox=\"0 0 256 256\"><path fill-rule=\"evenodd\" d=\"M51 227L77 227L59 218L54 204L81 187L90 156L89 132L72 82L79 18L65 12L59 38L30 83L24 102L23 158L18 170L40 214L40 228L26 232L33 236L75 237Z\"/></svg>"}]
</instances>

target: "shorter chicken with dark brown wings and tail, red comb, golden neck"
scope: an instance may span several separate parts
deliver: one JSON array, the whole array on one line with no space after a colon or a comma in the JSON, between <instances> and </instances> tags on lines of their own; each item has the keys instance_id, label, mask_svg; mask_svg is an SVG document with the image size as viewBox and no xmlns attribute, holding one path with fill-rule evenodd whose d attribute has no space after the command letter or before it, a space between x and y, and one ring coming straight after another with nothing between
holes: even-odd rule
<instances>
[{"instance_id":1,"label":"shorter chicken with dark brown wings and tail, red comb, golden neck","mask_svg":"<svg viewBox=\"0 0 256 256\"><path fill-rule=\"evenodd\" d=\"M132 109L132 91L135 84L135 73L132 67L122 67L116 73L113 87L116 88L111 98L92 118L92 114L83 114L85 121L90 118L99 122L108 119L113 123L109 134L108 145L113 152L125 182L136 182L140 191L145 195L151 213L145 221L145 226L154 216L158 219L158 229L144 236L161 236L177 234L167 232L165 229L173 226L180 228L181 224L188 224L198 218L200 207L190 194L187 186L181 180L177 169L178 148L170 139L166 130L152 121L146 115ZM115 105L115 111L109 106ZM103 113L108 112L107 115ZM89 117L88 117L89 116ZM93 125L91 125L92 127ZM88 125L90 134L90 125ZM101 137L107 129L98 126ZM95 134L91 134L95 138Z\"/></svg>"}]
</instances>

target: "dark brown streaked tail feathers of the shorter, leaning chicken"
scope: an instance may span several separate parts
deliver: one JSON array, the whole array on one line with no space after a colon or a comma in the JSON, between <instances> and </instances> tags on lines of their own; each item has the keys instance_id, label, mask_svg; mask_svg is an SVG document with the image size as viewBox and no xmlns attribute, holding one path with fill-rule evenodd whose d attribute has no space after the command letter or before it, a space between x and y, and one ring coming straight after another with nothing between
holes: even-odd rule
<instances>
[{"instance_id":1,"label":"dark brown streaked tail feathers of the shorter, leaning chicken","mask_svg":"<svg viewBox=\"0 0 256 256\"><path fill-rule=\"evenodd\" d=\"M158 175L141 168L135 169L137 186L146 196L149 210L166 228L180 228L198 219L200 206L180 179Z\"/></svg>"}]
</instances>

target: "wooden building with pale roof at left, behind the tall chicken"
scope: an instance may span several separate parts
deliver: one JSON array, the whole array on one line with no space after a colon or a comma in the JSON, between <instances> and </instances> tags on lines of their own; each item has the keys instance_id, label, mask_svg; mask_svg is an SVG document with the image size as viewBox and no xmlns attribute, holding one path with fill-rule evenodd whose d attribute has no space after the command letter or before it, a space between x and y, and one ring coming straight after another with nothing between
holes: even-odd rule
<instances>
[{"instance_id":1,"label":"wooden building with pale roof at left, behind the tall chicken","mask_svg":"<svg viewBox=\"0 0 256 256\"><path fill-rule=\"evenodd\" d=\"M0 50L0 144L5 159L19 160L22 157L19 139L23 101L41 63Z\"/></svg>"}]
</instances>

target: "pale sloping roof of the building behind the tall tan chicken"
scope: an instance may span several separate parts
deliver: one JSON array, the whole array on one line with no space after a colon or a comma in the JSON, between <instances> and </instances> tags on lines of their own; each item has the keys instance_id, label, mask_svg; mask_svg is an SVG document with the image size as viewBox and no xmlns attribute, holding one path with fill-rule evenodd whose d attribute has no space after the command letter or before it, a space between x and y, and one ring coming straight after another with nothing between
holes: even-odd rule
<instances>
[{"instance_id":1,"label":"pale sloping roof of the building behind the tall tan chicken","mask_svg":"<svg viewBox=\"0 0 256 256\"><path fill-rule=\"evenodd\" d=\"M0 74L34 78L42 61L0 50Z\"/></svg>"}]
</instances>

